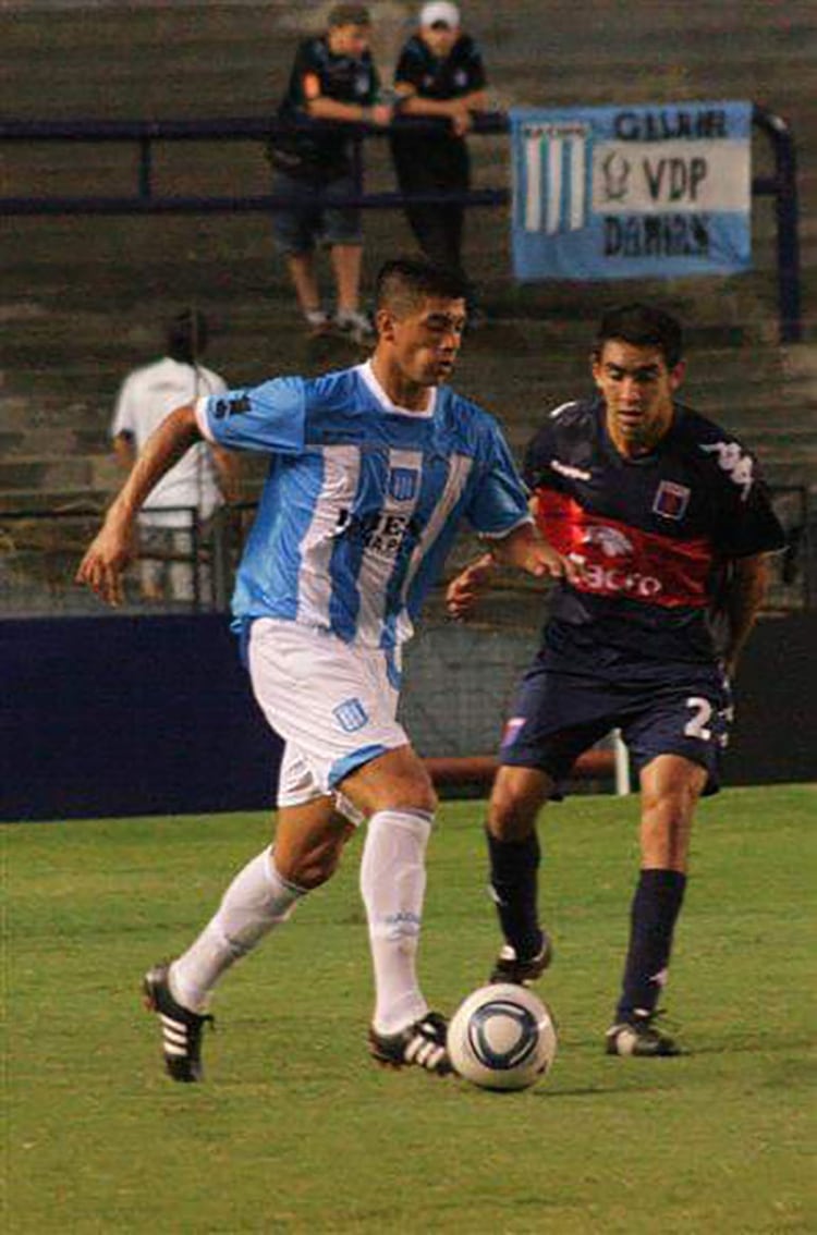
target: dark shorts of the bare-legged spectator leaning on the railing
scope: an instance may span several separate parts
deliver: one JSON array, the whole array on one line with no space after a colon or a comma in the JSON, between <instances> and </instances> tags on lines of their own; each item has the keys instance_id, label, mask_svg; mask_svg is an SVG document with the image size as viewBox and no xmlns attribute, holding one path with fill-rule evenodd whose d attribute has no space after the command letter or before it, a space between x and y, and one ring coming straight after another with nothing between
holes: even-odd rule
<instances>
[{"instance_id":1,"label":"dark shorts of the bare-legged spectator leaning on the railing","mask_svg":"<svg viewBox=\"0 0 817 1235\"><path fill-rule=\"evenodd\" d=\"M272 191L276 196L292 203L290 207L276 210L272 216L276 245L286 256L311 253L316 243L362 243L360 210L353 206L318 205L321 195L331 200L332 195L355 193L355 180L351 175L316 185L276 172Z\"/></svg>"}]
</instances>

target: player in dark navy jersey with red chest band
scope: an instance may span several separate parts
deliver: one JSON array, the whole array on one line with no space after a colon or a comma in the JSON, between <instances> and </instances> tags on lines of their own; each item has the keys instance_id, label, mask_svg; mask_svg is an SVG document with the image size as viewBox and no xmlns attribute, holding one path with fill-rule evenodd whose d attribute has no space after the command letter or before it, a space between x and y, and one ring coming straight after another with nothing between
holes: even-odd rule
<instances>
[{"instance_id":1,"label":"player in dark navy jersey with red chest band","mask_svg":"<svg viewBox=\"0 0 817 1235\"><path fill-rule=\"evenodd\" d=\"M487 834L506 944L492 978L529 982L548 966L536 816L576 757L619 727L640 779L641 869L609 1055L677 1053L655 1016L692 815L717 792L729 680L765 594L766 555L784 546L751 454L675 400L684 371L674 317L612 310L592 356L597 396L556 408L524 466L541 531L581 576L555 589L501 746ZM455 616L492 568L486 555L451 583Z\"/></svg>"}]
</instances>

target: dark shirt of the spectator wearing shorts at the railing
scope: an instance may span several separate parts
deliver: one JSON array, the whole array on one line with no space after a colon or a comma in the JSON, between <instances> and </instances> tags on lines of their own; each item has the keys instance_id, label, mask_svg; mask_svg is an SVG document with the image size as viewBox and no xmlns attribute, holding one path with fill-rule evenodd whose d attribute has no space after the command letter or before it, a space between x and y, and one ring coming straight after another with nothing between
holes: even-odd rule
<instances>
[{"instance_id":1,"label":"dark shirt of the spectator wearing shorts at the railing","mask_svg":"<svg viewBox=\"0 0 817 1235\"><path fill-rule=\"evenodd\" d=\"M321 95L337 103L368 107L379 93L379 78L368 51L360 57L336 56L329 47L326 35L305 38L295 54L289 85L278 109L281 120L307 119L305 82L309 77L318 79ZM276 167L288 175L334 180L350 170L349 141L340 122L336 133L276 137L269 153Z\"/></svg>"}]
</instances>

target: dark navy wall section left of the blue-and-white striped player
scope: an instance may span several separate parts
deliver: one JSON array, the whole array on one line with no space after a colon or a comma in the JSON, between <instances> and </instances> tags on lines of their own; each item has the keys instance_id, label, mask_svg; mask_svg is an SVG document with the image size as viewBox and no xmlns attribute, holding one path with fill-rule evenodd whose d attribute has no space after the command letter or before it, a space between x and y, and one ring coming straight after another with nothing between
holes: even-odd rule
<instances>
[{"instance_id":1,"label":"dark navy wall section left of the blue-and-white striped player","mask_svg":"<svg viewBox=\"0 0 817 1235\"><path fill-rule=\"evenodd\" d=\"M222 615L0 622L0 819L250 809L279 743Z\"/></svg>"}]
</instances>

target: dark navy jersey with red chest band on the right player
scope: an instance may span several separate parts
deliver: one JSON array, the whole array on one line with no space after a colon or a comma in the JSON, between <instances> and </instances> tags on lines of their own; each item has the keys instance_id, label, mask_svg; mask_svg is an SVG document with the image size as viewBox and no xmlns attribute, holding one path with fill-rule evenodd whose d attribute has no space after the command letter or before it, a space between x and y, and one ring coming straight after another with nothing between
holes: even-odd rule
<instances>
[{"instance_id":1,"label":"dark navy jersey with red chest band on the right player","mask_svg":"<svg viewBox=\"0 0 817 1235\"><path fill-rule=\"evenodd\" d=\"M616 673L640 662L712 661L713 610L730 559L784 547L753 456L680 404L651 454L623 458L601 399L550 414L523 475L538 524L582 568L555 592L545 645L556 663Z\"/></svg>"}]
</instances>

